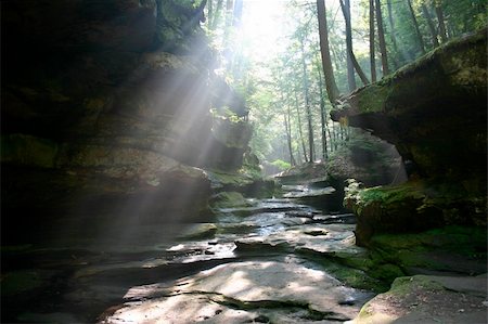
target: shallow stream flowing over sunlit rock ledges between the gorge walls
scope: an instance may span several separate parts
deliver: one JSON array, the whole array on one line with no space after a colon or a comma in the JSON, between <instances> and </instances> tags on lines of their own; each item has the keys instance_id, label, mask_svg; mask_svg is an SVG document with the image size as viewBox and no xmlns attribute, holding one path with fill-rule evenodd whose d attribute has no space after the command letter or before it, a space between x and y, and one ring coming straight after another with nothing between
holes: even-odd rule
<instances>
[{"instance_id":1,"label":"shallow stream flowing over sunlit rock ledges between the gorge walls","mask_svg":"<svg viewBox=\"0 0 488 324\"><path fill-rule=\"evenodd\" d=\"M296 189L288 190L290 198L248 199L246 206L218 210L205 223L112 220L92 228L72 222L64 224L68 234L60 241L3 251L3 261L15 264L5 283L16 280L26 286L12 294L7 290L5 319L27 323L351 320L374 296L334 275L345 268L334 261L336 254L364 252L355 246L355 218L299 204Z\"/></svg>"}]
</instances>

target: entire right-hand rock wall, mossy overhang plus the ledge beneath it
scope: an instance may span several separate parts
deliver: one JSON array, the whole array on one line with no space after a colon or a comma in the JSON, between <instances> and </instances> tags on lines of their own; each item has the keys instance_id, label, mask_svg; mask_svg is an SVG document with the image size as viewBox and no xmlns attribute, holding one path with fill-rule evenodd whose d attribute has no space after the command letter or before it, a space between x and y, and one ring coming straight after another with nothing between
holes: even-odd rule
<instances>
[{"instance_id":1,"label":"entire right-hand rock wall, mossy overhang plus the ledge beneath it","mask_svg":"<svg viewBox=\"0 0 488 324\"><path fill-rule=\"evenodd\" d=\"M453 40L332 112L395 144L410 173L402 186L350 189L359 244L378 233L486 224L486 35Z\"/></svg>"}]
</instances>

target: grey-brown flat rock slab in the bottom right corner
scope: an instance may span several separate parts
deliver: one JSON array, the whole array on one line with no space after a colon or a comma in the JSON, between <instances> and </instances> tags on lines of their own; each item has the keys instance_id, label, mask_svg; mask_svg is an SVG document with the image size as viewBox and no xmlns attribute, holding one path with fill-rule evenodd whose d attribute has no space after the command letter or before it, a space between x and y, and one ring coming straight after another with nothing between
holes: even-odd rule
<instances>
[{"instance_id":1,"label":"grey-brown flat rock slab in the bottom right corner","mask_svg":"<svg viewBox=\"0 0 488 324\"><path fill-rule=\"evenodd\" d=\"M486 294L486 276L399 277L348 323L487 323Z\"/></svg>"}]
</instances>

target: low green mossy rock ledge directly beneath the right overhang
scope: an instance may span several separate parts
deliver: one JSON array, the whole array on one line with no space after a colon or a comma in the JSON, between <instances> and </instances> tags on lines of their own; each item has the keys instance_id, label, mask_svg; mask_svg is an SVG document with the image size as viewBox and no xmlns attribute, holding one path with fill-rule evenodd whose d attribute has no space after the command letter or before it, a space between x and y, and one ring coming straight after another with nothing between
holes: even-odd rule
<instances>
[{"instance_id":1,"label":"low green mossy rock ledge directly beneath the right overhang","mask_svg":"<svg viewBox=\"0 0 488 324\"><path fill-rule=\"evenodd\" d=\"M363 246L373 235L382 233L420 232L446 224L486 224L481 202L460 187L423 181L369 189L360 189L352 181L344 200L358 216L357 244Z\"/></svg>"}]
</instances>

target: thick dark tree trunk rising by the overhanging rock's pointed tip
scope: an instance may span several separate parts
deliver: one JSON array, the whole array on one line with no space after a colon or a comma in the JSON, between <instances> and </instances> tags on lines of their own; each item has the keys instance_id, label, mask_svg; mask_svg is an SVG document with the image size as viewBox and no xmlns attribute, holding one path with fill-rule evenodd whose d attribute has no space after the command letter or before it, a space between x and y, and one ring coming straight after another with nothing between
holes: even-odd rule
<instances>
[{"instance_id":1,"label":"thick dark tree trunk rising by the overhanging rock's pointed tip","mask_svg":"<svg viewBox=\"0 0 488 324\"><path fill-rule=\"evenodd\" d=\"M325 0L317 0L317 16L319 20L320 54L322 56L323 75L325 77L325 89L329 101L335 106L335 101L339 96L337 83L332 68L331 52L329 49L328 18L325 15Z\"/></svg>"}]
</instances>

